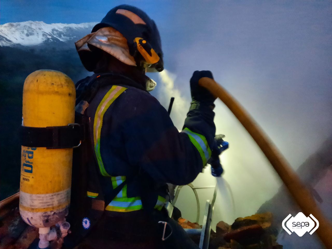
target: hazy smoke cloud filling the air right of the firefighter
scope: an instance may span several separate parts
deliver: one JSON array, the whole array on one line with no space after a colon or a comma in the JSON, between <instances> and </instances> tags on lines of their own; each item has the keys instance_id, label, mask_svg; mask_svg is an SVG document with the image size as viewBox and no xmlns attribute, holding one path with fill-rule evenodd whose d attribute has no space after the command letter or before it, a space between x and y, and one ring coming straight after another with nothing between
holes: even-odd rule
<instances>
[{"instance_id":1,"label":"hazy smoke cloud filling the air right of the firefighter","mask_svg":"<svg viewBox=\"0 0 332 249\"><path fill-rule=\"evenodd\" d=\"M181 128L189 108L189 84L182 82L189 82L195 70L210 70L296 170L331 134L331 3L209 1L187 8L178 1L173 6L167 22L173 28L161 29L172 84L163 86L165 92L158 92L158 98L167 107L176 89L185 100L184 110L177 110L175 99L174 123ZM219 100L214 111L216 133L225 134L230 143L220 158L223 177L234 194L235 215L224 208L228 201L217 198L212 228L221 219L231 223L255 213L282 184L248 132ZM194 185L215 182L207 168ZM213 190L197 192L202 217ZM183 188L177 203L190 220L196 217L194 198ZM287 209L283 203L276 205Z\"/></svg>"}]
</instances>

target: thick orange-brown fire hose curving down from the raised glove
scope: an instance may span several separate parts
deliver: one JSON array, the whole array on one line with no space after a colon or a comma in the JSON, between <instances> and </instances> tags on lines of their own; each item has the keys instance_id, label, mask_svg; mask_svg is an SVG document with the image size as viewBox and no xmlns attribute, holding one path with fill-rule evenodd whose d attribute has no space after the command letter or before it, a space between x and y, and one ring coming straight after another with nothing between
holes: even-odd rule
<instances>
[{"instance_id":1,"label":"thick orange-brown fire hose curving down from the raised glove","mask_svg":"<svg viewBox=\"0 0 332 249\"><path fill-rule=\"evenodd\" d=\"M332 248L332 226L316 205L309 190L300 181L289 163L279 152L264 131L249 116L246 110L222 86L213 79L203 77L199 85L207 88L215 97L219 98L249 132L257 145L263 151L271 165L284 182L291 196L306 216L312 214L319 221L317 234L326 248Z\"/></svg>"}]
</instances>

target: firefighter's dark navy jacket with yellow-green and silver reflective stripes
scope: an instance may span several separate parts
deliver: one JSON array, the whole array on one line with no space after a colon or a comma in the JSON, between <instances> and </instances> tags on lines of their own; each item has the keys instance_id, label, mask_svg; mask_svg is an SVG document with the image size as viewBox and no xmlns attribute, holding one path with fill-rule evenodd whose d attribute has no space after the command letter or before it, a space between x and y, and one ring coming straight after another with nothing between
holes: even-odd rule
<instances>
[{"instance_id":1,"label":"firefighter's dark navy jacket with yellow-green and silver reflective stripes","mask_svg":"<svg viewBox=\"0 0 332 249\"><path fill-rule=\"evenodd\" d=\"M192 105L179 132L165 108L145 90L145 82L94 74L81 80L77 91L86 90L91 81L103 82L94 83L98 85L94 97L83 104L103 195L111 195L127 180L116 197L105 203L105 210L160 210L167 196L166 183L191 183L206 165L215 134L212 109ZM87 196L93 199L99 194L90 184Z\"/></svg>"}]
</instances>

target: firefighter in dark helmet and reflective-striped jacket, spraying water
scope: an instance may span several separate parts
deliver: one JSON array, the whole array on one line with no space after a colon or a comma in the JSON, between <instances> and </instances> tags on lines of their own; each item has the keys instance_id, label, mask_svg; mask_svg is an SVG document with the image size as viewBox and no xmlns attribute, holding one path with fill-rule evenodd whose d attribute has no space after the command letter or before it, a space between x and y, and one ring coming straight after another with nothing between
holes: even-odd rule
<instances>
[{"instance_id":1,"label":"firefighter in dark helmet and reflective-striped jacket, spraying water","mask_svg":"<svg viewBox=\"0 0 332 249\"><path fill-rule=\"evenodd\" d=\"M163 205L166 183L191 183L211 156L215 98L198 81L213 79L212 73L193 73L192 102L179 132L149 93L156 83L145 72L163 70L163 53L158 29L142 10L113 8L75 44L94 72L76 84L76 112L88 120L93 155L86 195L101 213L98 220L83 217L89 232L80 247L198 248Z\"/></svg>"}]
</instances>

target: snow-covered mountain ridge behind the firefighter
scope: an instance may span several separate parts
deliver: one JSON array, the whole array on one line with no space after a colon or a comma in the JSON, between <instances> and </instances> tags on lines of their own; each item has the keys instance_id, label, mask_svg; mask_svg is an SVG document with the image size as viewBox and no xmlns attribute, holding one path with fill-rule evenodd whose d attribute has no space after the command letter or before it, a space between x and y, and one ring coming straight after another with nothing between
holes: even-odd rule
<instances>
[{"instance_id":1,"label":"snow-covered mountain ridge behind the firefighter","mask_svg":"<svg viewBox=\"0 0 332 249\"><path fill-rule=\"evenodd\" d=\"M97 23L46 24L40 21L0 25L0 46L33 46L45 42L77 41L91 32Z\"/></svg>"}]
</instances>

